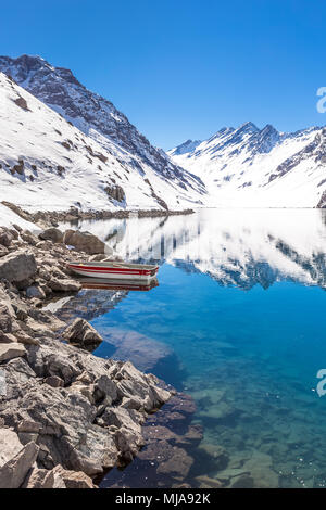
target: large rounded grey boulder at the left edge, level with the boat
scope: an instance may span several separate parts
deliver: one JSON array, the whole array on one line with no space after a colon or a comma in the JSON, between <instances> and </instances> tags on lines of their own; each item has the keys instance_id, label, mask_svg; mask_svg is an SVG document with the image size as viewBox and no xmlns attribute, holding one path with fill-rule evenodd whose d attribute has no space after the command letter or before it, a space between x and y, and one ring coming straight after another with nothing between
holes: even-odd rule
<instances>
[{"instance_id":1,"label":"large rounded grey boulder at the left edge, level with the boat","mask_svg":"<svg viewBox=\"0 0 326 510\"><path fill-rule=\"evenodd\" d=\"M0 279L24 282L36 275L37 265L32 253L17 251L0 258Z\"/></svg>"}]
</instances>

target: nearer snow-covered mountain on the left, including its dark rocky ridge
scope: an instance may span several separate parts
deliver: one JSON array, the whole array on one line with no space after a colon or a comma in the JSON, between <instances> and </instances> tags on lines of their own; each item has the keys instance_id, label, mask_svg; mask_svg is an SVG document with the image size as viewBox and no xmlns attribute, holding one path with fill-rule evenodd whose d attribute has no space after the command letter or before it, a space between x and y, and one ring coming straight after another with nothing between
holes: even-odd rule
<instances>
[{"instance_id":1,"label":"nearer snow-covered mountain on the left, including its dark rocky ridge","mask_svg":"<svg viewBox=\"0 0 326 510\"><path fill-rule=\"evenodd\" d=\"M200 178L71 71L39 56L0 58L0 201L32 209L181 209L204 196Z\"/></svg>"}]
</instances>

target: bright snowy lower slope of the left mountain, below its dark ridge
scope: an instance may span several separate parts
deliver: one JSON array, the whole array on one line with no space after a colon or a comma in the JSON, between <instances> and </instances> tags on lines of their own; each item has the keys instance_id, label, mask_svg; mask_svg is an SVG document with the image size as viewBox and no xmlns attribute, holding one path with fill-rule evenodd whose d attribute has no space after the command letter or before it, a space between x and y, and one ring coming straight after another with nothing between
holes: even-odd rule
<instances>
[{"instance_id":1,"label":"bright snowy lower slope of the left mountain, below its dark ridge","mask_svg":"<svg viewBox=\"0 0 326 510\"><path fill-rule=\"evenodd\" d=\"M201 197L109 152L3 73L0 105L0 202L29 212L179 211Z\"/></svg>"}]
</instances>

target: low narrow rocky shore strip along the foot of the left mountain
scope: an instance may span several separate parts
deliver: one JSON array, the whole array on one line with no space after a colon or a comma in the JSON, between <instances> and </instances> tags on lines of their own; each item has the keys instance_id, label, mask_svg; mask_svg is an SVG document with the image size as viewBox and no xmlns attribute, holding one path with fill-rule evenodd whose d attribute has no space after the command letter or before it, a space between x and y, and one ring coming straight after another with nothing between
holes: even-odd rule
<instances>
[{"instance_id":1,"label":"low narrow rocky shore strip along the foot of the left mountain","mask_svg":"<svg viewBox=\"0 0 326 510\"><path fill-rule=\"evenodd\" d=\"M170 211L170 209L139 209L139 211L82 211L78 207L71 207L68 211L38 211L29 213L18 205L11 202L1 202L21 218L26 221L39 225L41 227L55 226L61 222L74 222L89 219L112 219L112 218L129 218L130 214L137 214L139 218L156 218L165 216L179 216L193 214L193 209Z\"/></svg>"}]
</instances>

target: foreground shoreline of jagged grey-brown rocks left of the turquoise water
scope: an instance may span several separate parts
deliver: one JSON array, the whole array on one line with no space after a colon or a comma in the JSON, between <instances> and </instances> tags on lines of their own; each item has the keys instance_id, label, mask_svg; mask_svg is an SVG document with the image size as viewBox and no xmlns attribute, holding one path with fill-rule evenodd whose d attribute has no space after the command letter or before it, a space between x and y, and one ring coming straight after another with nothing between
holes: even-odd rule
<instances>
[{"instance_id":1,"label":"foreground shoreline of jagged grey-brown rocks left of the turquoise water","mask_svg":"<svg viewBox=\"0 0 326 510\"><path fill-rule=\"evenodd\" d=\"M96 487L134 459L142 424L174 394L129 361L89 354L101 337L85 319L67 326L43 309L80 290L66 262L104 248L72 230L0 228L0 488Z\"/></svg>"}]
</instances>

